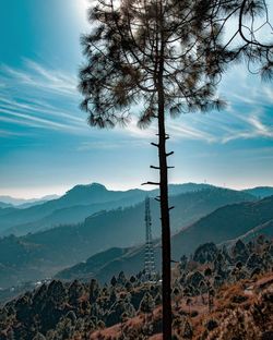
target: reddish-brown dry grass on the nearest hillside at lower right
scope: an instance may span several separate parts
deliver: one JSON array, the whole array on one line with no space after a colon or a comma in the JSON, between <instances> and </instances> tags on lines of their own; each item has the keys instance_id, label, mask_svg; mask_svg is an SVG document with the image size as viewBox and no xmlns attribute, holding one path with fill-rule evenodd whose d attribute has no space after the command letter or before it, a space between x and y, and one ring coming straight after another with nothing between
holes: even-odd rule
<instances>
[{"instance_id":1,"label":"reddish-brown dry grass on the nearest hillside at lower right","mask_svg":"<svg viewBox=\"0 0 273 340\"><path fill-rule=\"evenodd\" d=\"M270 272L252 280L223 287L215 296L212 313L209 313L207 305L203 304L201 296L197 296L192 299L191 306L187 305L186 299L180 299L178 308L174 307L174 314L177 319L187 318L190 321L193 329L192 340L228 340L235 336L238 340L260 340L265 330L273 331L273 304L266 300L272 296L273 274ZM197 312L194 316L193 312ZM156 307L150 321L156 325L161 318L162 307ZM146 320L143 314L139 314L122 325L124 331L130 335L129 339L142 339L138 338L138 335ZM209 330L210 320L216 320L217 327ZM174 328L174 332L181 333L179 326ZM120 335L119 324L94 332L90 340L118 340ZM145 339L162 340L162 335L155 333Z\"/></svg>"}]
</instances>

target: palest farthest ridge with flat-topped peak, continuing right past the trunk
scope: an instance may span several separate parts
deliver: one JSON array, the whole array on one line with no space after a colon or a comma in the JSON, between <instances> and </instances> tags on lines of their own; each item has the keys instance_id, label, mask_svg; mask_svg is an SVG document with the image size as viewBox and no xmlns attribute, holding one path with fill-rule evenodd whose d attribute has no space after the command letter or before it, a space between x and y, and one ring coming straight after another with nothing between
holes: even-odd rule
<instances>
[{"instance_id":1,"label":"palest farthest ridge with flat-topped peak, continuing right past the trunk","mask_svg":"<svg viewBox=\"0 0 273 340\"><path fill-rule=\"evenodd\" d=\"M169 193L177 195L210 187L213 186L195 183L170 184ZM110 191L98 183L76 185L57 199L37 203L25 209L13 208L1 211L0 235L23 235L60 224L79 223L94 212L138 204L147 194L156 196L158 191L146 192L139 189Z\"/></svg>"}]
</instances>

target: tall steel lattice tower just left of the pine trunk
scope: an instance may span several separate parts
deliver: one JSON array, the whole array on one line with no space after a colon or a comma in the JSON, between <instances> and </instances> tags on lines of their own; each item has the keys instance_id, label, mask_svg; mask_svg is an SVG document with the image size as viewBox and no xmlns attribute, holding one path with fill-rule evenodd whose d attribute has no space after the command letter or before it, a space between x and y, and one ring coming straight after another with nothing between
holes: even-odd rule
<instances>
[{"instance_id":1,"label":"tall steel lattice tower just left of the pine trunk","mask_svg":"<svg viewBox=\"0 0 273 340\"><path fill-rule=\"evenodd\" d=\"M146 227L146 243L145 243L145 264L144 275L146 281L155 279L155 260L154 260L154 245L152 239L152 219L150 209L150 197L145 198L145 227Z\"/></svg>"}]
</instances>

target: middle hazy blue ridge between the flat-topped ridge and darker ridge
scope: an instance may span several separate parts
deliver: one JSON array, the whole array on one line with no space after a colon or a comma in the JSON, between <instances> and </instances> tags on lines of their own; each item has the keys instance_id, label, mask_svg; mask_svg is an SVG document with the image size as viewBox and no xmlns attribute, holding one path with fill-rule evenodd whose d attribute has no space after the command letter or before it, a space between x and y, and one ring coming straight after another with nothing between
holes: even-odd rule
<instances>
[{"instance_id":1,"label":"middle hazy blue ridge between the flat-topped ridge and darker ridge","mask_svg":"<svg viewBox=\"0 0 273 340\"><path fill-rule=\"evenodd\" d=\"M143 256L138 254L138 245L143 243L145 234L143 199L141 203L131 207L93 214L75 226L66 224L24 236L0 239L0 287L51 277L64 267L75 265L109 247L136 246L136 259L142 264ZM173 232L180 231L219 207L251 201L256 198L247 193L216 187L171 196L170 204L176 207L171 210ZM46 206L49 204L50 202ZM153 234L158 238L159 207L153 199L151 210ZM180 254L182 252L183 247L180 248ZM132 266L132 263L129 265ZM134 267L131 269L134 270Z\"/></svg>"}]
</instances>

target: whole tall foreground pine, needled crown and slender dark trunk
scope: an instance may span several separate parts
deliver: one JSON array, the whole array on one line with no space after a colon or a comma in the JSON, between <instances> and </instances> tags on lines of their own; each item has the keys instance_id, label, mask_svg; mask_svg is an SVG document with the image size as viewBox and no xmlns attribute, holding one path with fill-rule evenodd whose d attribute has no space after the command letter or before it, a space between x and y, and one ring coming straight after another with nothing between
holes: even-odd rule
<instances>
[{"instance_id":1,"label":"whole tall foreground pine, needled crown and slender dark trunk","mask_svg":"<svg viewBox=\"0 0 273 340\"><path fill-rule=\"evenodd\" d=\"M260 0L98 0L90 10L92 33L82 38L87 64L80 72L82 109L92 126L124 125L135 110L139 126L156 121L163 245L163 337L171 338L170 222L166 117L219 109L215 95L226 62L241 53L272 75L272 52L246 34L261 10ZM227 41L223 29L232 16L238 29ZM251 32L250 26L250 32ZM241 38L242 44L233 47ZM233 47L233 49L230 48ZM138 105L136 105L138 104Z\"/></svg>"}]
</instances>

